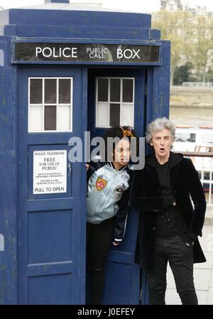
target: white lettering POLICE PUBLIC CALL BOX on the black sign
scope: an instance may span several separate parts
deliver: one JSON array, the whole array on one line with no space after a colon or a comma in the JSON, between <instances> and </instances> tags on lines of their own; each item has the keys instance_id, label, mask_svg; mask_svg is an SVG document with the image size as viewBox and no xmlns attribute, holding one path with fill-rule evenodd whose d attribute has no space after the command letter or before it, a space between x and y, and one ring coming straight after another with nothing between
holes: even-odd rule
<instances>
[{"instance_id":1,"label":"white lettering POLICE PUBLIC CALL BOX on the black sign","mask_svg":"<svg viewBox=\"0 0 213 319\"><path fill-rule=\"evenodd\" d=\"M89 59L104 59L106 55L109 54L109 50L106 47L86 47L86 55L89 56ZM40 46L35 47L35 58L79 58L77 55L78 48L77 47L51 47L45 46L44 48ZM141 49L133 49L133 48L117 48L116 50L116 58L117 59L141 59L140 56Z\"/></svg>"}]
</instances>

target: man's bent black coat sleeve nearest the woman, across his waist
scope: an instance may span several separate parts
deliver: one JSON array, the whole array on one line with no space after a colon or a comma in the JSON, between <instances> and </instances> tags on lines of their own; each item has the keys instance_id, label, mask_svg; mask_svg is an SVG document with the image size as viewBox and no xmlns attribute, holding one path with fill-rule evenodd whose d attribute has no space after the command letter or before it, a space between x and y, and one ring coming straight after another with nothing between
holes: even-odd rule
<instances>
[{"instance_id":1,"label":"man's bent black coat sleeve nearest the woman, across his waist","mask_svg":"<svg viewBox=\"0 0 213 319\"><path fill-rule=\"evenodd\" d=\"M147 180L145 170L146 168L143 168L141 171L133 172L131 207L140 212L158 212L163 208L163 196L147 195L146 183L152 183L152 180Z\"/></svg>"}]
</instances>

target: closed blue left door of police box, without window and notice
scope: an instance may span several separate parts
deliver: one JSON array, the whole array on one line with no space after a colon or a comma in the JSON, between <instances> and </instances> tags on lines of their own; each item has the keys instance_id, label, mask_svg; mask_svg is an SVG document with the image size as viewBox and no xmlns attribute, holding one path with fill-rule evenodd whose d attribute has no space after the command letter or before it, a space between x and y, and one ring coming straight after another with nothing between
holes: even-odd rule
<instances>
[{"instance_id":1,"label":"closed blue left door of police box, without window and notice","mask_svg":"<svg viewBox=\"0 0 213 319\"><path fill-rule=\"evenodd\" d=\"M28 134L28 77L73 77L73 130L60 144L57 132ZM84 303L84 163L72 163L66 194L31 195L33 151L68 154L68 137L83 136L82 112L82 70L18 69L18 303Z\"/></svg>"}]
</instances>

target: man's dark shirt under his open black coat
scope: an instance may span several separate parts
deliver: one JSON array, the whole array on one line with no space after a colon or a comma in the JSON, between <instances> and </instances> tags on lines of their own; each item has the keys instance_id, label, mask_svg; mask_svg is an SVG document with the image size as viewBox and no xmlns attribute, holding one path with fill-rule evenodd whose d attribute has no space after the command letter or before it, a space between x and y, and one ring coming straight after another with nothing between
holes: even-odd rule
<instances>
[{"instance_id":1,"label":"man's dark shirt under his open black coat","mask_svg":"<svg viewBox=\"0 0 213 319\"><path fill-rule=\"evenodd\" d=\"M163 210L158 212L155 234L157 236L175 236L185 232L186 225L182 220L180 209L173 205L175 197L172 193L169 176L170 161L160 165L157 162L158 181L160 185L160 195L163 195Z\"/></svg>"}]
</instances>

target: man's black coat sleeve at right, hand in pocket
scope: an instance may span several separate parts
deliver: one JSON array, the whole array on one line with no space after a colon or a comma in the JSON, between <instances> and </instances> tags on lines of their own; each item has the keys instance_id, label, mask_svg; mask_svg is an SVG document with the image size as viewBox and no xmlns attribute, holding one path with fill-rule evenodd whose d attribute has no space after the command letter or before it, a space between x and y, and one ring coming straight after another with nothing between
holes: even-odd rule
<instances>
[{"instance_id":1,"label":"man's black coat sleeve at right, hand in pocket","mask_svg":"<svg viewBox=\"0 0 213 319\"><path fill-rule=\"evenodd\" d=\"M204 225L204 215L207 202L204 195L202 183L192 161L187 158L188 185L194 210L188 232L202 236L202 227Z\"/></svg>"}]
</instances>

